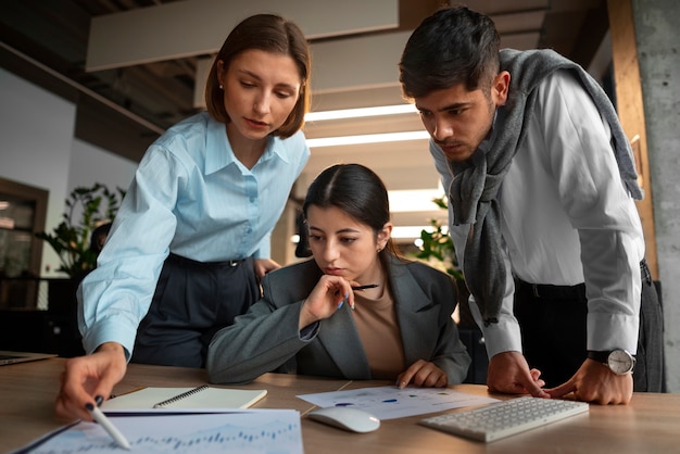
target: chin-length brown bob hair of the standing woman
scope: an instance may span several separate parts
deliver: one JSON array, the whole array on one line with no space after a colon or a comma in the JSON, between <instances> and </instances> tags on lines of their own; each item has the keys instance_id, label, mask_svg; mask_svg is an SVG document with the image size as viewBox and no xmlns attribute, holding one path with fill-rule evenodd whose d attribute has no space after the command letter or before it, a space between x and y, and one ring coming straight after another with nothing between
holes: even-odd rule
<instances>
[{"instance_id":1,"label":"chin-length brown bob hair of the standing woman","mask_svg":"<svg viewBox=\"0 0 680 454\"><path fill-rule=\"evenodd\" d=\"M207 112L216 121L229 123L229 115L224 106L224 92L219 88L218 62L224 62L223 70L226 71L237 55L251 49L289 55L298 65L301 79L300 97L286 122L273 133L274 136L288 138L304 125L304 114L310 106L312 63L308 43L300 27L278 15L256 14L243 20L231 30L207 75L205 83Z\"/></svg>"}]
</instances>

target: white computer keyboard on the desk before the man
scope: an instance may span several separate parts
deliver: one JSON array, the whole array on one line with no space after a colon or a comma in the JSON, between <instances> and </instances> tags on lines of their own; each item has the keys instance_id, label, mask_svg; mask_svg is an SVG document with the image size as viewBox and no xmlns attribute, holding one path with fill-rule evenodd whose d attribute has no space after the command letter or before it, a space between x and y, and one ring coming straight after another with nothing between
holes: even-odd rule
<instances>
[{"instance_id":1,"label":"white computer keyboard on the desk before the man","mask_svg":"<svg viewBox=\"0 0 680 454\"><path fill-rule=\"evenodd\" d=\"M522 396L420 419L423 426L480 441L494 441L569 416L588 413L584 402Z\"/></svg>"}]
</instances>

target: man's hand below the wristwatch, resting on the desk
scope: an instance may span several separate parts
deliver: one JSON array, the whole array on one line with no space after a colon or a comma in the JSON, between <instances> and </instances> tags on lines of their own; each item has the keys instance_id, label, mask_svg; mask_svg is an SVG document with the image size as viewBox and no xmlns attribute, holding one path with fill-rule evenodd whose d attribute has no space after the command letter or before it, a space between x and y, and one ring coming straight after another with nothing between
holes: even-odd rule
<instances>
[{"instance_id":1,"label":"man's hand below the wristwatch, resting on the desk","mask_svg":"<svg viewBox=\"0 0 680 454\"><path fill-rule=\"evenodd\" d=\"M633 395L633 377L616 375L604 364L585 360L569 381L546 392L553 398L574 392L579 401L601 405L628 404Z\"/></svg>"}]
</instances>

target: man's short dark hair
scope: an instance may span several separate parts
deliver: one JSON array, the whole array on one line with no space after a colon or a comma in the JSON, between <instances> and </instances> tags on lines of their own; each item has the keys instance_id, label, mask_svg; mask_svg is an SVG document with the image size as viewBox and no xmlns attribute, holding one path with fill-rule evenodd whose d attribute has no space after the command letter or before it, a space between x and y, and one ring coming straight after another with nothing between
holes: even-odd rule
<instances>
[{"instance_id":1,"label":"man's short dark hair","mask_svg":"<svg viewBox=\"0 0 680 454\"><path fill-rule=\"evenodd\" d=\"M464 84L490 90L500 72L501 37L493 21L465 7L444 8L413 31L399 63L407 99Z\"/></svg>"}]
</instances>

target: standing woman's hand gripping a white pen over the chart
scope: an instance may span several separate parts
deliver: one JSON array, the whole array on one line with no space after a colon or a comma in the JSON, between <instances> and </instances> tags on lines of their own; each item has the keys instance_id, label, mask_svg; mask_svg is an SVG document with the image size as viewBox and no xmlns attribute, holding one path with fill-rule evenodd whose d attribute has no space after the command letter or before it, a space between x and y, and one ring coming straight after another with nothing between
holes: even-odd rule
<instances>
[{"instance_id":1,"label":"standing woman's hand gripping a white pen over the chart","mask_svg":"<svg viewBox=\"0 0 680 454\"><path fill-rule=\"evenodd\" d=\"M58 416L92 420L85 405L101 404L113 387L123 379L127 361L123 345L104 343L96 353L66 362L54 409ZM100 402L98 402L100 401Z\"/></svg>"}]
</instances>

